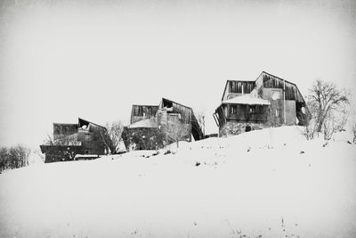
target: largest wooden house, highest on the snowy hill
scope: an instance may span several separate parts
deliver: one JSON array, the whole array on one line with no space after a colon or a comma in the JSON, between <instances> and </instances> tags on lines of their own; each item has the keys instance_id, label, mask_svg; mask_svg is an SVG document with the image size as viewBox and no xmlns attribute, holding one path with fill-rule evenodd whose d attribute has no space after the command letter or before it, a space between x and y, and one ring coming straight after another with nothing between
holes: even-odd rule
<instances>
[{"instance_id":1,"label":"largest wooden house, highest on the snowy hill","mask_svg":"<svg viewBox=\"0 0 356 238\"><path fill-rule=\"evenodd\" d=\"M280 125L303 125L311 119L298 87L262 72L255 81L228 80L214 112L219 135Z\"/></svg>"}]
</instances>

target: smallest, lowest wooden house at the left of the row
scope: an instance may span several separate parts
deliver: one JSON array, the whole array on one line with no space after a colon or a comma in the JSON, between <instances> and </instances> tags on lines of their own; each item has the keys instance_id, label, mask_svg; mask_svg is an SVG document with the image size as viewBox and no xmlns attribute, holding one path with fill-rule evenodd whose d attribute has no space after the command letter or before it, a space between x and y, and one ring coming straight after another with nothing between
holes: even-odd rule
<instances>
[{"instance_id":1,"label":"smallest, lowest wooden house at the left of the row","mask_svg":"<svg viewBox=\"0 0 356 238\"><path fill-rule=\"evenodd\" d=\"M44 162L74 160L77 154L102 155L106 128L91 121L78 119L75 124L53 123L53 139L40 145Z\"/></svg>"}]
</instances>

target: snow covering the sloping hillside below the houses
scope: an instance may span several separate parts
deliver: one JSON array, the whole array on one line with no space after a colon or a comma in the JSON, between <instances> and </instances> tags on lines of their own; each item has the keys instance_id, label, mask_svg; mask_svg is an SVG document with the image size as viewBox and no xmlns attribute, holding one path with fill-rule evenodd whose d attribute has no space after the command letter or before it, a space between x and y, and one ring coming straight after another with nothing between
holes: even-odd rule
<instances>
[{"instance_id":1,"label":"snow covering the sloping hillside below the houses","mask_svg":"<svg viewBox=\"0 0 356 238\"><path fill-rule=\"evenodd\" d=\"M8 171L0 236L356 237L356 145L302 130Z\"/></svg>"}]
</instances>

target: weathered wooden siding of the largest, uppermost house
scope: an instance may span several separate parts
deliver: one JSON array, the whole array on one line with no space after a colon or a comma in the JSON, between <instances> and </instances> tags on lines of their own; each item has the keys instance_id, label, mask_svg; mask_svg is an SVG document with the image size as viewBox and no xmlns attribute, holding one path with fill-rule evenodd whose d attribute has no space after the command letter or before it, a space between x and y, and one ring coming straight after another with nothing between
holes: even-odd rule
<instances>
[{"instance_id":1,"label":"weathered wooden siding of the largest, uppermost house","mask_svg":"<svg viewBox=\"0 0 356 238\"><path fill-rule=\"evenodd\" d=\"M228 80L223 91L222 101L242 95L242 88L244 94L256 89L257 94L268 100L271 105L264 107L263 113L259 115L255 111L252 111L252 113L248 111L247 106L239 106L239 109L231 111L230 105L222 104L214 113L214 120L220 129L224 127L228 120L247 121L247 119L252 119L269 125L281 125L286 121L287 125L293 125L296 122L295 118L297 118L298 125L305 126L311 119L311 113L298 87L283 78L263 71L255 81ZM274 94L275 92L278 93ZM272 96L273 94L275 96ZM284 119L285 115L286 120Z\"/></svg>"}]
</instances>

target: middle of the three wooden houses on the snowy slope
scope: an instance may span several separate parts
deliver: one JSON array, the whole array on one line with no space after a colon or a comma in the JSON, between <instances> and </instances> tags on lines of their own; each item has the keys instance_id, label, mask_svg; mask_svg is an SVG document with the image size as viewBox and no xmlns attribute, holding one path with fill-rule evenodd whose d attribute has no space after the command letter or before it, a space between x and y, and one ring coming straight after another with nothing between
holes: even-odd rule
<instances>
[{"instance_id":1,"label":"middle of the three wooden houses on the snowy slope","mask_svg":"<svg viewBox=\"0 0 356 238\"><path fill-rule=\"evenodd\" d=\"M189 125L190 133L184 138L203 139L198 120L190 107L162 98L158 105L133 105L131 124L124 128L123 139L127 150L158 149L166 143L165 129L172 123Z\"/></svg>"}]
</instances>

